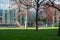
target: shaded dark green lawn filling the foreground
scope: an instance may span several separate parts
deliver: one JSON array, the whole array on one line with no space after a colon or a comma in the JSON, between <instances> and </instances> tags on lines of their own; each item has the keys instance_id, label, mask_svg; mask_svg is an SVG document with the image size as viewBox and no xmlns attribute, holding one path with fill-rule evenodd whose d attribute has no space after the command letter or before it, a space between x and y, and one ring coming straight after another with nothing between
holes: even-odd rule
<instances>
[{"instance_id":1,"label":"shaded dark green lawn filling the foreground","mask_svg":"<svg viewBox=\"0 0 60 40\"><path fill-rule=\"evenodd\" d=\"M0 40L60 40L57 29L0 29Z\"/></svg>"}]
</instances>

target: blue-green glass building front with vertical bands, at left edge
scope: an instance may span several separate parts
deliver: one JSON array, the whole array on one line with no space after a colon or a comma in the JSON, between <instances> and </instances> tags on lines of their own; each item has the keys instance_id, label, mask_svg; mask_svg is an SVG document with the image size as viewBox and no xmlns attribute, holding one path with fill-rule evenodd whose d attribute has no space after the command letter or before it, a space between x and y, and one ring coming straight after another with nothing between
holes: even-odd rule
<instances>
[{"instance_id":1,"label":"blue-green glass building front with vertical bands, at left edge","mask_svg":"<svg viewBox=\"0 0 60 40\"><path fill-rule=\"evenodd\" d=\"M2 10L0 9L0 24L15 24L16 12L15 10Z\"/></svg>"}]
</instances>

